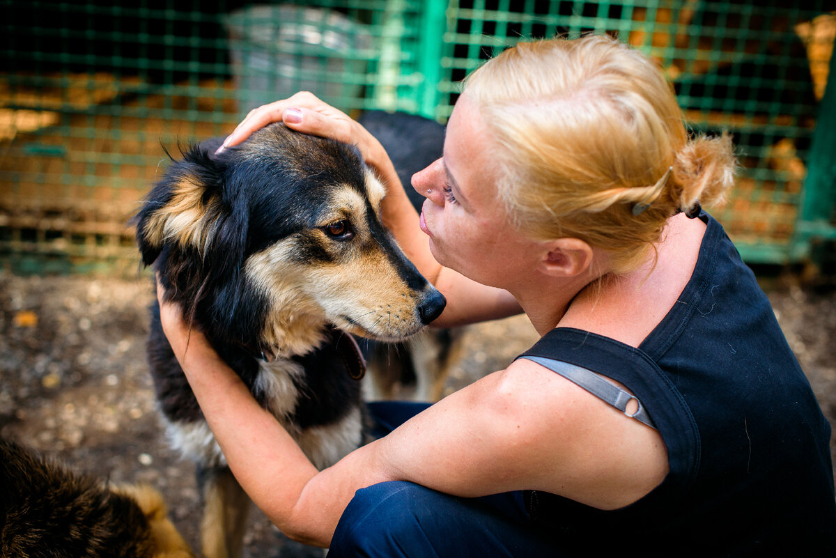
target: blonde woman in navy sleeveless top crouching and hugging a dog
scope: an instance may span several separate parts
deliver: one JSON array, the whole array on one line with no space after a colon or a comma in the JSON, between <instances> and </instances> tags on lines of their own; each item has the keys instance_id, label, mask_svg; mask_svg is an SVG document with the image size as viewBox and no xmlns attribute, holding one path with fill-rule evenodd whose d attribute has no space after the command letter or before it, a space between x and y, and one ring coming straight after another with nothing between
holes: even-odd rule
<instances>
[{"instance_id":1,"label":"blonde woman in navy sleeveless top crouching and hugging a dog","mask_svg":"<svg viewBox=\"0 0 836 558\"><path fill-rule=\"evenodd\" d=\"M283 532L337 556L836 550L829 425L700 211L732 185L731 142L687 138L648 58L587 37L486 63L413 177L420 218L380 144L310 94L254 110L222 149L273 121L358 145L387 226L447 297L436 325L522 309L543 336L318 472L165 307L232 472Z\"/></svg>"}]
</instances>

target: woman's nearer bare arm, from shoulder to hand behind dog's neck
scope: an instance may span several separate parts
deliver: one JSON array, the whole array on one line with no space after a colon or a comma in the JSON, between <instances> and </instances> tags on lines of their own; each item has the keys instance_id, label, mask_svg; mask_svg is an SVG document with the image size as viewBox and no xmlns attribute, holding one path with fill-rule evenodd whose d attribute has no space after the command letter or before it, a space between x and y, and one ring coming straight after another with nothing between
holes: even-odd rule
<instances>
[{"instance_id":1,"label":"woman's nearer bare arm, from shoulder to hand behind dog's neck","mask_svg":"<svg viewBox=\"0 0 836 558\"><path fill-rule=\"evenodd\" d=\"M356 490L408 480L464 497L535 489L601 508L630 504L667 471L658 433L520 360L319 472L176 305L166 336L242 488L285 534L328 546Z\"/></svg>"}]
</instances>

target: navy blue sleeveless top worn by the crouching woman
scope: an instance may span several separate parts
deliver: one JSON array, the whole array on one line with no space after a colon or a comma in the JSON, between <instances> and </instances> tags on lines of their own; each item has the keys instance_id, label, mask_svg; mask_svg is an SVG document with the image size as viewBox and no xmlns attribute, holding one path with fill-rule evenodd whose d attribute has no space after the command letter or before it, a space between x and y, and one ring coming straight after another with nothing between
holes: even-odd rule
<instances>
[{"instance_id":1,"label":"navy blue sleeveless top worn by the crouching woman","mask_svg":"<svg viewBox=\"0 0 836 558\"><path fill-rule=\"evenodd\" d=\"M640 347L558 327L523 353L623 383L659 429L670 473L613 511L528 492L532 520L577 555L836 556L830 425L752 271L700 218L691 280Z\"/></svg>"}]
</instances>

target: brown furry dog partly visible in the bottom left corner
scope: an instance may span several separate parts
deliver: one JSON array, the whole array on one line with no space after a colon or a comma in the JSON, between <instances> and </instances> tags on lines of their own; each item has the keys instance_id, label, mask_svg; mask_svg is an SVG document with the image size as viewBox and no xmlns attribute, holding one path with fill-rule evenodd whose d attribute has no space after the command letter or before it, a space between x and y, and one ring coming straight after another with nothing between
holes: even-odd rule
<instances>
[{"instance_id":1,"label":"brown furry dog partly visible in the bottom left corner","mask_svg":"<svg viewBox=\"0 0 836 558\"><path fill-rule=\"evenodd\" d=\"M0 557L193 558L147 485L110 486L0 439Z\"/></svg>"}]
</instances>

